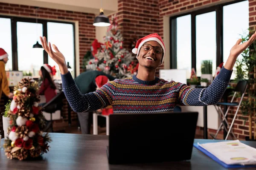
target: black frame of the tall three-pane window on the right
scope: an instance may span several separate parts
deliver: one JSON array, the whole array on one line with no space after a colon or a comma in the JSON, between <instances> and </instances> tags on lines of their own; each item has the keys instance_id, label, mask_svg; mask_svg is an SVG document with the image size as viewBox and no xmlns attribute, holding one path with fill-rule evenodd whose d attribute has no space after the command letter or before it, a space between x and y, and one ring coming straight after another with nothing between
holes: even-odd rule
<instances>
[{"instance_id":1,"label":"black frame of the tall three-pane window on the right","mask_svg":"<svg viewBox=\"0 0 256 170\"><path fill-rule=\"evenodd\" d=\"M184 14L175 15L169 18L170 24L170 67L177 69L177 18L185 15L191 15L191 68L196 69L196 15L205 14L208 12L216 12L216 65L223 62L223 7L234 3L240 3L246 0L235 0L228 3L219 4L216 6L200 9L197 11L187 12ZM249 10L249 9L248 9Z\"/></svg>"}]
</instances>

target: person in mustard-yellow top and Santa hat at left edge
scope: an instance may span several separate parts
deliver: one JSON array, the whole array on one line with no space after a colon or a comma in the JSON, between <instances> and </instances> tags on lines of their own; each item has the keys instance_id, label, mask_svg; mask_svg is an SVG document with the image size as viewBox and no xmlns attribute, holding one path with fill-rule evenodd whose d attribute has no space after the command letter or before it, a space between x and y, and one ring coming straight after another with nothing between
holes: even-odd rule
<instances>
[{"instance_id":1,"label":"person in mustard-yellow top and Santa hat at left edge","mask_svg":"<svg viewBox=\"0 0 256 170\"><path fill-rule=\"evenodd\" d=\"M3 48L0 48L0 98L3 92L9 99L11 99L13 93L10 92L5 71L5 64L8 60L8 54Z\"/></svg>"}]
</instances>

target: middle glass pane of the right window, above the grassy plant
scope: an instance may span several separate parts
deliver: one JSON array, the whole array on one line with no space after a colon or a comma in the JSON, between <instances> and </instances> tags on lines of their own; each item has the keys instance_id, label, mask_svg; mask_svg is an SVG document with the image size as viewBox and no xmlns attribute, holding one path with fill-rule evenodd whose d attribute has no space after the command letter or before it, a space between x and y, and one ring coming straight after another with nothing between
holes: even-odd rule
<instances>
[{"instance_id":1,"label":"middle glass pane of the right window, above the grassy plant","mask_svg":"<svg viewBox=\"0 0 256 170\"><path fill-rule=\"evenodd\" d=\"M201 77L201 63L212 60L212 74L216 70L216 12L197 15L196 26L196 75Z\"/></svg>"}]
</instances>

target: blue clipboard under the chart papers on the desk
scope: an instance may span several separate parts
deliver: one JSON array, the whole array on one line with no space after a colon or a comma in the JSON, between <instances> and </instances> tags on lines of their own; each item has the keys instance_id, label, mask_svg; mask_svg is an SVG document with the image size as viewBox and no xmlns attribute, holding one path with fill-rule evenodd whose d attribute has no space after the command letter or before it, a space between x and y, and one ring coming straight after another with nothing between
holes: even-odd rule
<instances>
[{"instance_id":1,"label":"blue clipboard under the chart papers on the desk","mask_svg":"<svg viewBox=\"0 0 256 170\"><path fill-rule=\"evenodd\" d=\"M225 164L223 161L219 160L216 156L209 153L207 150L205 150L203 147L199 146L197 143L194 143L193 146L195 148L197 148L198 150L200 150L202 153L209 156L214 161L218 162L218 164L221 164L225 168L256 167L255 164L253 164L253 165L241 165L241 164L232 164L232 165L230 165L230 164Z\"/></svg>"}]
</instances>

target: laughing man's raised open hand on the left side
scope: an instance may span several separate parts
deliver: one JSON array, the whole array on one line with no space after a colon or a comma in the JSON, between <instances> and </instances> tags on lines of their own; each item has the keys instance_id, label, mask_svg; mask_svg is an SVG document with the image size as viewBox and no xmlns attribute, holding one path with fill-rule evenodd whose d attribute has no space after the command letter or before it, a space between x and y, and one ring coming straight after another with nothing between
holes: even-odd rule
<instances>
[{"instance_id":1,"label":"laughing man's raised open hand on the left side","mask_svg":"<svg viewBox=\"0 0 256 170\"><path fill-rule=\"evenodd\" d=\"M58 50L58 48L56 47L56 45L52 45L49 42L49 46L47 44L47 40L46 37L40 37L42 46L44 48L44 50L49 54L49 56L58 64L61 74L67 74L68 70L67 70L67 64L66 64L66 60L64 55ZM52 51L52 47L53 49L56 51Z\"/></svg>"}]
</instances>

